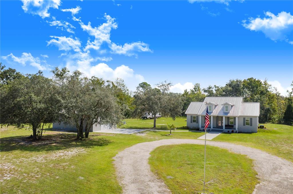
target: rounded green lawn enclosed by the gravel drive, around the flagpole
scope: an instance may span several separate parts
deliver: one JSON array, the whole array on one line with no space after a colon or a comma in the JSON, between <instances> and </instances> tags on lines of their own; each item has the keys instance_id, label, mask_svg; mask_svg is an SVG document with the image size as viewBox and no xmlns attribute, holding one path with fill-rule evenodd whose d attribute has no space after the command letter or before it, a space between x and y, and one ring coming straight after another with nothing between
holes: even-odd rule
<instances>
[{"instance_id":1,"label":"rounded green lawn enclosed by the gravel drive, around the flagpole","mask_svg":"<svg viewBox=\"0 0 293 194\"><path fill-rule=\"evenodd\" d=\"M151 152L149 164L172 193L203 193L204 146L160 146ZM207 193L253 193L256 174L253 161L245 155L207 146Z\"/></svg>"}]
</instances>

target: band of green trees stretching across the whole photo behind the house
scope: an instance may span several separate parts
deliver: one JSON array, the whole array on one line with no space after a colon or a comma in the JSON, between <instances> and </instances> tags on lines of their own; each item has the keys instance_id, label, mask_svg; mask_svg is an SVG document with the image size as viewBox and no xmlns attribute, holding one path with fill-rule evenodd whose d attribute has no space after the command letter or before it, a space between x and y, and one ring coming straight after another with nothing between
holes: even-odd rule
<instances>
[{"instance_id":1,"label":"band of green trees stretching across the whole photo behind the house","mask_svg":"<svg viewBox=\"0 0 293 194\"><path fill-rule=\"evenodd\" d=\"M244 97L244 102L260 102L260 123L293 123L293 82L288 96L280 95L268 82L255 78L230 80L225 86L201 88L196 83L183 94L170 92L171 83L164 81L151 87L140 83L130 91L122 79L108 81L87 78L80 71L55 68L52 78L42 71L21 74L0 63L0 124L18 128L29 126L33 140L41 139L45 123L64 122L76 126L77 139L88 138L91 127L98 123L115 127L123 118L139 118L144 113L165 117L185 116L190 102L205 97ZM154 118L156 127L156 117Z\"/></svg>"}]
</instances>

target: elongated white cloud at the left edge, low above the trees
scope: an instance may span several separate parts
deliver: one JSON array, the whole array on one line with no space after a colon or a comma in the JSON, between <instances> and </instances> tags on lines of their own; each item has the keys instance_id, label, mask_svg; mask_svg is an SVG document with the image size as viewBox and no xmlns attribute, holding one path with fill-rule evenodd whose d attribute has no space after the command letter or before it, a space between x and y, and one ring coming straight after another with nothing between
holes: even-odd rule
<instances>
[{"instance_id":1,"label":"elongated white cloud at the left edge, low above the trees","mask_svg":"<svg viewBox=\"0 0 293 194\"><path fill-rule=\"evenodd\" d=\"M3 56L2 58L5 60L11 58L14 62L22 64L23 66L31 65L33 67L38 68L39 70L49 70L46 67L46 61L41 61L39 57L33 57L30 53L22 53L20 57L16 57L12 53L10 53L9 55ZM43 65L41 63L43 63Z\"/></svg>"}]
</instances>

